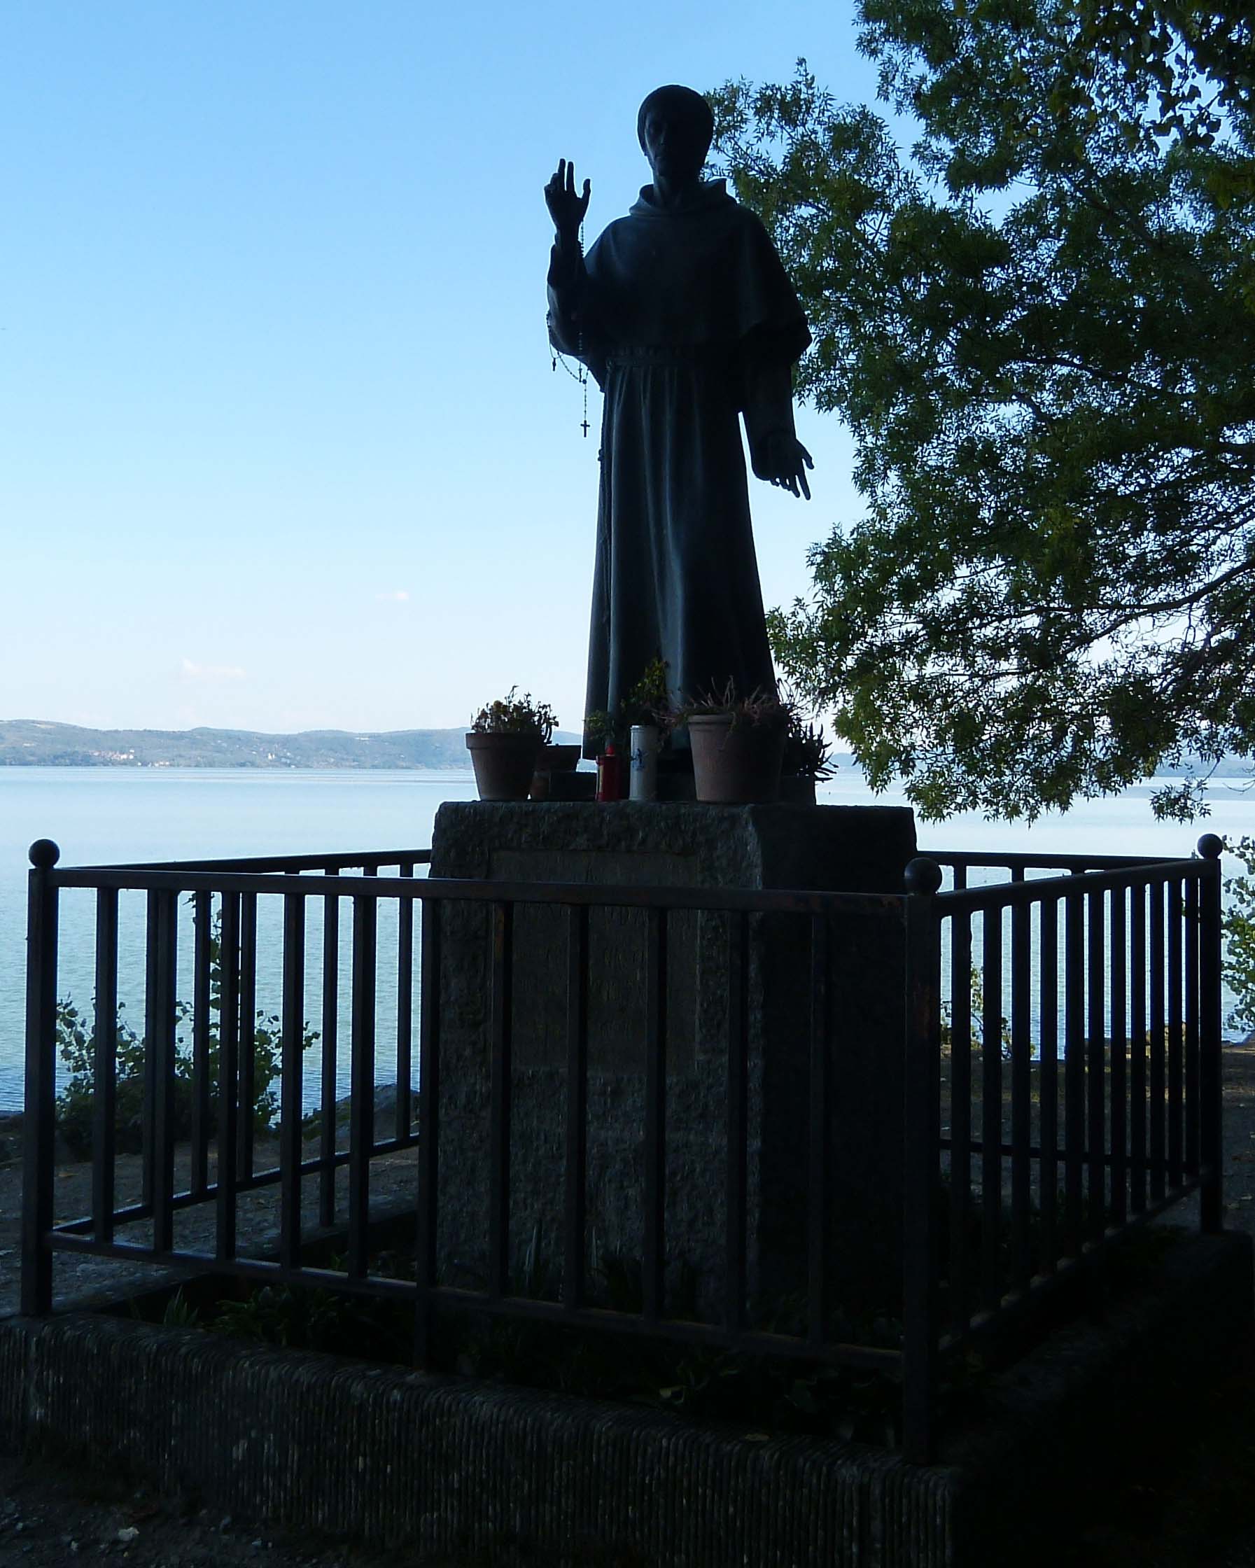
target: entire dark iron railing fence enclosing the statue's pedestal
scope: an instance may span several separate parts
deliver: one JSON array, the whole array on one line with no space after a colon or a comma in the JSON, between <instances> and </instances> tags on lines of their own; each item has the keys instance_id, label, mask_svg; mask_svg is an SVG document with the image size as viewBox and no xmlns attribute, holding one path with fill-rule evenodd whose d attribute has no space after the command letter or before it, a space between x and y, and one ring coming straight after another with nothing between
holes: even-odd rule
<instances>
[{"instance_id":1,"label":"entire dark iron railing fence enclosing the statue's pedestal","mask_svg":"<svg viewBox=\"0 0 1255 1568\"><path fill-rule=\"evenodd\" d=\"M902 1378L905 1452L933 1449L938 1369L974 1334L1023 1312L1081 1267L1101 1267L1111 1245L1153 1214L1202 1193L1202 1225L1220 1225L1219 1157L1219 850L1173 862L1131 858L938 855L911 862L907 892L606 887L435 880L416 875L427 851L284 856L227 862L58 867L55 845L31 848L27 994L27 1145L24 1311L52 1306L56 1253L96 1254L187 1270L292 1281L409 1303L416 1363L425 1364L433 1314L442 1308L634 1333L684 1344L831 1364L882 1367ZM1101 869L1095 869L1098 864ZM938 891L943 866L954 886ZM381 875L395 869L395 875ZM1012 880L965 886L990 869ZM1062 869L1064 877L1028 877ZM344 872L361 870L361 877ZM89 1215L53 1215L56 1094L58 900L96 898L91 1036L93 1203ZM118 1203L118 898L144 909L143 1192ZM257 982L257 905L282 909L278 1146L257 1168L248 1113ZM191 909L187 931L184 911ZM342 920L348 905L348 919ZM515 931L522 908L560 919L562 1124L560 1269L549 1297L521 1292L511 1273L513 1047L521 1013ZM460 1129L441 1126L442 936L453 911L482 911L491 933L483 1217L485 1278L455 1286L441 1273L441 1170ZM397 1085L386 1129L376 1126L376 989L380 914L395 914ZM317 914L317 922L311 917ZM637 1309L607 1308L591 1289L590 966L609 911L634 911L642 950L643 1093L638 1113L640 1286ZM753 1259L747 1215L756 1178L750 1109L753 941L764 917L805 928L809 988L805 1029L806 1126L800 1129L805 1228L797 1322L767 1327L750 1303ZM215 927L216 919L216 927ZM714 1314L679 1317L668 1294L668 1032L675 1025L675 931L684 920L722 922L720 989L722 1278ZM839 922L883 933L902 955L904 1215L900 1339L852 1339L831 1300L831 1107L841 1094L842 1041L827 993L839 980ZM309 931L320 941L309 961ZM351 1024L347 1146L337 1137L336 1041L342 927L351 925ZM894 935L896 933L896 935ZM623 931L610 933L623 941ZM177 1066L176 974L191 946L195 996L190 1063ZM389 955L391 961L391 955ZM417 975L416 975L417 967ZM315 975L317 971L317 975ZM311 985L317 980L317 985ZM311 991L323 1025L317 1146L303 1129L303 1055ZM417 1040L417 1096L411 1040ZM996 1041L996 1047L987 1043ZM212 1060L213 1058L213 1060ZM331 1066L328 1068L328 1060ZM188 1179L176 1184L176 1068L190 1082ZM215 1071L215 1068L218 1071ZM210 1087L213 1085L213 1102ZM417 1121L414 1118L417 1099ZM722 1123L722 1126L718 1124ZM383 1134L383 1135L381 1135ZM453 1142L449 1142L453 1140ZM372 1272L372 1163L417 1146L414 1278ZM210 1170L210 1152L215 1168ZM347 1167L347 1206L336 1174ZM342 1270L303 1262L301 1196L317 1184L318 1225L347 1229ZM938 1187L944 1184L944 1223ZM447 1184L446 1184L447 1185ZM240 1256L240 1196L278 1187L278 1253ZM179 1247L174 1218L212 1206L212 1245ZM149 1229L133 1232L143 1221ZM121 1234L130 1232L130 1234Z\"/></svg>"}]
</instances>

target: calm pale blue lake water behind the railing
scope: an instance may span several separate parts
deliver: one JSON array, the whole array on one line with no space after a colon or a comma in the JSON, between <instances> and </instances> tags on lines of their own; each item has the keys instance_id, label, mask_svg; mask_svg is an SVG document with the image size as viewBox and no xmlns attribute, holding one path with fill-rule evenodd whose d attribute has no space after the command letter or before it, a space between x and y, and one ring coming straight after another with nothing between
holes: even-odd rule
<instances>
[{"instance_id":1,"label":"calm pale blue lake water behind the railing","mask_svg":"<svg viewBox=\"0 0 1255 1568\"><path fill-rule=\"evenodd\" d=\"M820 793L835 804L902 803L896 793L874 797L850 768L842 768ZM924 823L919 844L924 850L1150 853L1173 859L1189 855L1205 831L1255 836L1255 795L1236 787L1216 786L1211 818L1194 828L1155 822L1150 793L1150 787L1133 789L1065 815L1046 817L1032 828L990 823L977 815L955 817L943 825ZM25 883L27 848L33 839L55 839L63 866L417 850L431 842L431 823L441 801L472 800L474 795L469 771L0 768L0 1112L22 1102ZM93 989L91 898L91 894L75 892L63 900L58 989L80 1007L89 1005ZM143 1018L143 895L132 895L130 906L124 895L122 905L119 969L122 989L133 997L129 1016L138 1024ZM276 935L262 927L262 944L273 942ZM311 944L315 935L311 933ZM381 944L386 941L381 920ZM345 975L342 996L347 997L347 991ZM191 994L187 975L180 977L180 994ZM378 1073L383 1080L389 1077L391 1060L386 1044L389 1008L395 1008L383 982L380 1002ZM259 1005L278 1008L276 985L271 991L262 986ZM311 1014L314 1011L312 1007ZM344 1077L347 1060L340 1066ZM314 1085L307 1088L312 1094Z\"/></svg>"}]
</instances>

